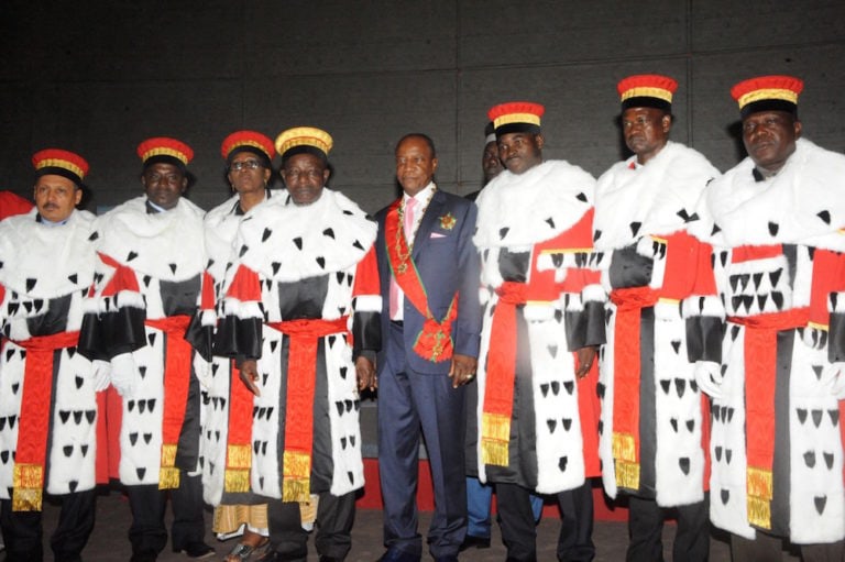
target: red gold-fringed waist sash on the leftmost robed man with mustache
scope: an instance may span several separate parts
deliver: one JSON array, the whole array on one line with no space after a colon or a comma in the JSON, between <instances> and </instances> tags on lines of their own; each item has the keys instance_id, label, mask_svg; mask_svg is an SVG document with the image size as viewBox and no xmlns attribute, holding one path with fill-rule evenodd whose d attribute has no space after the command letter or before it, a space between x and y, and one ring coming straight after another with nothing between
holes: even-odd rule
<instances>
[{"instance_id":1,"label":"red gold-fringed waist sash on the leftmost robed man with mustache","mask_svg":"<svg viewBox=\"0 0 845 562\"><path fill-rule=\"evenodd\" d=\"M10 341L26 350L21 412L18 417L18 451L12 476L12 510L41 511L53 394L53 354L57 350L75 346L79 341L79 332L59 332Z\"/></svg>"}]
</instances>

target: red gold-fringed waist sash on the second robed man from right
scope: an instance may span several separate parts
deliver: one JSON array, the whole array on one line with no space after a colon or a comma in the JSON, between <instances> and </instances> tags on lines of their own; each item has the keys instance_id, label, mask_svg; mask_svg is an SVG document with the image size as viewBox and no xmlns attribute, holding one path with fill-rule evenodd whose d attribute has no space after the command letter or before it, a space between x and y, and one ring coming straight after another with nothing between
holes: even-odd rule
<instances>
[{"instance_id":1,"label":"red gold-fringed waist sash on the second robed man from right","mask_svg":"<svg viewBox=\"0 0 845 562\"><path fill-rule=\"evenodd\" d=\"M613 459L616 485L639 489L639 382L641 310L654 307L658 293L649 286L614 289Z\"/></svg>"}]
</instances>

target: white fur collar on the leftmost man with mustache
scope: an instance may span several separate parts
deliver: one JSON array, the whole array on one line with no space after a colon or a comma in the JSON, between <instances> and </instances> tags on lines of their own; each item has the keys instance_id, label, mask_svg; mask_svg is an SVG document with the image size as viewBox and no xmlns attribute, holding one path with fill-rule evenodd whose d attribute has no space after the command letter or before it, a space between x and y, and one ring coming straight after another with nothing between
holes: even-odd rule
<instances>
[{"instance_id":1,"label":"white fur collar on the leftmost man with mustache","mask_svg":"<svg viewBox=\"0 0 845 562\"><path fill-rule=\"evenodd\" d=\"M74 211L65 224L35 221L36 209L0 222L0 284L31 298L55 298L91 284L96 254L88 240L95 220Z\"/></svg>"}]
</instances>

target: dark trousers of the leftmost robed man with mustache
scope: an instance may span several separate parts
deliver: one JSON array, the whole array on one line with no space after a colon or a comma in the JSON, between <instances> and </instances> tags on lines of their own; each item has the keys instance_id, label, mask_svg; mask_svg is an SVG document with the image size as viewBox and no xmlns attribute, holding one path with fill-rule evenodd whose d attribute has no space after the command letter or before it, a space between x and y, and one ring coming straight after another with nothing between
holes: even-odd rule
<instances>
[{"instance_id":1,"label":"dark trousers of the leftmost robed man with mustache","mask_svg":"<svg viewBox=\"0 0 845 562\"><path fill-rule=\"evenodd\" d=\"M97 491L87 489L63 496L58 526L50 539L56 562L77 562L94 530ZM43 527L41 511L12 511L12 502L0 502L0 526L6 540L7 562L41 562Z\"/></svg>"}]
</instances>

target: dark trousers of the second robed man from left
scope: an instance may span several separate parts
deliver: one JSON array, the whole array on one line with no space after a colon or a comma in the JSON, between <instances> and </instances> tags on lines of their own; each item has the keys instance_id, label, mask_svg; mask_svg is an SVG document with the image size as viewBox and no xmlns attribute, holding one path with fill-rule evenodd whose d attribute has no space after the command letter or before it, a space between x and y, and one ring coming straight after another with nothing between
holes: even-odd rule
<instances>
[{"instance_id":1,"label":"dark trousers of the second robed man from left","mask_svg":"<svg viewBox=\"0 0 845 562\"><path fill-rule=\"evenodd\" d=\"M164 511L167 508L167 493L173 502L173 526L171 543L174 551L191 542L202 542L206 525L202 509L202 483L199 476L188 476L179 471L179 487L171 491L158 489L157 484L127 486L132 526L129 541L133 554L157 554L167 544L164 527Z\"/></svg>"}]
</instances>

